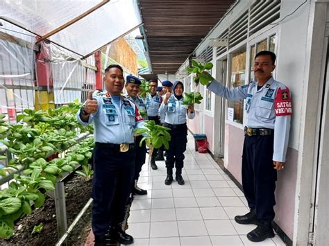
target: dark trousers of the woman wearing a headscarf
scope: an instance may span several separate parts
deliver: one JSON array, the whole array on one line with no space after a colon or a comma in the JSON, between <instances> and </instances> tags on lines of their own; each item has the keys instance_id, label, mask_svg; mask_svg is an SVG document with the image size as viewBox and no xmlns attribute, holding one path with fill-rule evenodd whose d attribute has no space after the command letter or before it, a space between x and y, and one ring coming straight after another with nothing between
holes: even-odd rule
<instances>
[{"instance_id":1,"label":"dark trousers of the woman wearing a headscarf","mask_svg":"<svg viewBox=\"0 0 329 246\"><path fill-rule=\"evenodd\" d=\"M181 174L184 166L184 152L187 143L187 125L167 125L171 128L169 131L171 140L169 141L169 150L167 150L166 168L176 167L176 174Z\"/></svg>"}]
</instances>

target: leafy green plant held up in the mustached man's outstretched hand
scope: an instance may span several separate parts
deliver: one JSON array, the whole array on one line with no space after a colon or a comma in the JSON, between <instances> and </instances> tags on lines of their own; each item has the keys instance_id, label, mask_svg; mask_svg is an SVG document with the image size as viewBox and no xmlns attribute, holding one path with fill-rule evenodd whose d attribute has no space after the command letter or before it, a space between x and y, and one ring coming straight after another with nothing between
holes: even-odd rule
<instances>
[{"instance_id":1,"label":"leafy green plant held up in the mustached man's outstretched hand","mask_svg":"<svg viewBox=\"0 0 329 246\"><path fill-rule=\"evenodd\" d=\"M196 62L196 60L192 60L192 67L187 67L187 71L189 73L196 74L193 78L196 86L199 85L199 82L201 82L201 85L208 85L208 83L212 81L213 78L212 76L210 76L210 74L203 72L212 69L213 66L214 65L211 62L202 64L201 62Z\"/></svg>"}]
</instances>

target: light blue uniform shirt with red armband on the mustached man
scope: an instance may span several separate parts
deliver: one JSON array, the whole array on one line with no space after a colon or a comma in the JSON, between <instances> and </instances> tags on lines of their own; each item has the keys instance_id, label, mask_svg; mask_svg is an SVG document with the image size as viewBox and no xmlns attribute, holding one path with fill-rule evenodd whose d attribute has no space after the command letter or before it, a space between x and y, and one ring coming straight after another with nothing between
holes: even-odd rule
<instances>
[{"instance_id":1,"label":"light blue uniform shirt with red armband on the mustached man","mask_svg":"<svg viewBox=\"0 0 329 246\"><path fill-rule=\"evenodd\" d=\"M251 81L248 85L229 89L217 80L212 80L207 87L214 94L228 100L246 99L246 126L273 129L273 161L285 162L292 115L289 89L273 78L270 78L260 90L257 85L256 81Z\"/></svg>"}]
</instances>

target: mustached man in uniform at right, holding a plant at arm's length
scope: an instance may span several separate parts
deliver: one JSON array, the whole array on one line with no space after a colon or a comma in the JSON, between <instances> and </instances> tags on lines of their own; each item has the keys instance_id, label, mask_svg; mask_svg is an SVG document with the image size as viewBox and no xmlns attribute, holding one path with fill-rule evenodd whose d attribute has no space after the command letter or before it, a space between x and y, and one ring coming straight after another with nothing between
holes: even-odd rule
<instances>
[{"instance_id":1,"label":"mustached man in uniform at right, holding a plant at arm's length","mask_svg":"<svg viewBox=\"0 0 329 246\"><path fill-rule=\"evenodd\" d=\"M292 100L288 87L272 77L275 61L273 52L260 51L253 67L256 81L233 89L216 80L208 85L210 91L229 100L246 99L242 186L250 212L235 216L235 221L258 225L247 234L254 242L274 236L271 221L275 216L277 170L285 167L289 141Z\"/></svg>"}]
</instances>

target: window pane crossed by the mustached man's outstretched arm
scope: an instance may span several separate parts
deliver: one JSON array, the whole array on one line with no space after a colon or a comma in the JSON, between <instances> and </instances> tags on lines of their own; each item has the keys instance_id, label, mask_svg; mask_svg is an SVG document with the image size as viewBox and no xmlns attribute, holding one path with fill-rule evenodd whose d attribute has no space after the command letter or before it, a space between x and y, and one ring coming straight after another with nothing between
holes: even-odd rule
<instances>
[{"instance_id":1,"label":"window pane crossed by the mustached man's outstretched arm","mask_svg":"<svg viewBox=\"0 0 329 246\"><path fill-rule=\"evenodd\" d=\"M232 54L231 60L231 76L230 87L239 87L246 82L246 48L241 49ZM233 109L233 121L242 123L244 117L244 100L229 100L228 108L231 112ZM232 120L232 116L228 114L228 120Z\"/></svg>"}]
</instances>

